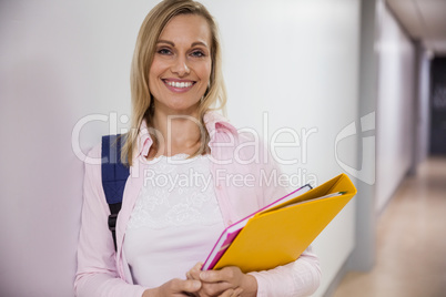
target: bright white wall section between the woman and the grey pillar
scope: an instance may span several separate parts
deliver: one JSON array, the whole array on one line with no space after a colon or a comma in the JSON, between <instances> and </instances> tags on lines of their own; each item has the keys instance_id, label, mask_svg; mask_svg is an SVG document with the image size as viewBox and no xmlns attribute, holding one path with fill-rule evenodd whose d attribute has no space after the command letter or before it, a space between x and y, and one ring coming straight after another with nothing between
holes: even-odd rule
<instances>
[{"instance_id":1,"label":"bright white wall section between the woman and the grey pillar","mask_svg":"<svg viewBox=\"0 0 446 297\"><path fill-rule=\"evenodd\" d=\"M223 35L229 115L268 140L292 129L300 147L277 150L295 181L322 183L342 172L337 133L358 119L358 1L205 1ZM227 17L225 8L236 3ZM267 112L267 123L263 121ZM267 131L264 126L267 126ZM307 136L305 136L307 135ZM304 144L304 139L306 144ZM290 133L280 141L293 142ZM339 157L356 166L356 139L338 144ZM321 296L355 243L354 202L316 239Z\"/></svg>"}]
</instances>

